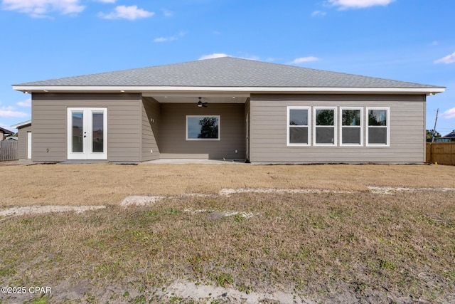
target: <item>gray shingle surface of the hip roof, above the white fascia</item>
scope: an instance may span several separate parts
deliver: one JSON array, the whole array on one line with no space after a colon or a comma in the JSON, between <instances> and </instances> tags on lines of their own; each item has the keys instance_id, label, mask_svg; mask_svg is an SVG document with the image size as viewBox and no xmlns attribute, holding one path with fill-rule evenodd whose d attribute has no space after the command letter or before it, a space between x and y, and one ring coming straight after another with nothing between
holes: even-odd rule
<instances>
[{"instance_id":1,"label":"gray shingle surface of the hip roof, above the white fascia","mask_svg":"<svg viewBox=\"0 0 455 304\"><path fill-rule=\"evenodd\" d=\"M14 85L26 87L220 87L220 88L424 88L441 87L403 81L264 63L213 58L108 73L81 75ZM442 91L442 90L439 90Z\"/></svg>"}]
</instances>

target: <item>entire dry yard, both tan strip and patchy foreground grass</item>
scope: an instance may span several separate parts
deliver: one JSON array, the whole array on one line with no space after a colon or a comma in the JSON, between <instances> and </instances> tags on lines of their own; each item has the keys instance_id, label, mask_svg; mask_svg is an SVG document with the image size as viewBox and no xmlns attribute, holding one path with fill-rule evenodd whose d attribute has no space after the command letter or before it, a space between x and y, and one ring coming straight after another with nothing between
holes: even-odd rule
<instances>
[{"instance_id":1,"label":"entire dry yard, both tan strip and patchy foreground grass","mask_svg":"<svg viewBox=\"0 0 455 304\"><path fill-rule=\"evenodd\" d=\"M454 177L455 167L434 165L0 167L0 178L16 186L0 194L0 206L108 205L0 219L0 285L53 290L42 298L0 295L0 303L245 303L276 290L316 303L452 303L455 192L375 194L368 186L455 188ZM223 188L351 193L173 196L119 206L129 195ZM245 298L181 297L167 290L176 280L234 288Z\"/></svg>"}]
</instances>

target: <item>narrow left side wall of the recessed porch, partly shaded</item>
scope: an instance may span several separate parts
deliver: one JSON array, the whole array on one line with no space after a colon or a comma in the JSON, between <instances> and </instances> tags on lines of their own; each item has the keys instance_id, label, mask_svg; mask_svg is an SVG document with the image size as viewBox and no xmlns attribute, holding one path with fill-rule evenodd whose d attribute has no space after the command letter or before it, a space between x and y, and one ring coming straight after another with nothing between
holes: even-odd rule
<instances>
[{"instance_id":1,"label":"narrow left side wall of the recessed porch, partly shaded","mask_svg":"<svg viewBox=\"0 0 455 304\"><path fill-rule=\"evenodd\" d=\"M154 98L143 98L142 109L142 143L141 161L159 159L159 124L161 106ZM153 151L153 152L151 152Z\"/></svg>"}]
</instances>

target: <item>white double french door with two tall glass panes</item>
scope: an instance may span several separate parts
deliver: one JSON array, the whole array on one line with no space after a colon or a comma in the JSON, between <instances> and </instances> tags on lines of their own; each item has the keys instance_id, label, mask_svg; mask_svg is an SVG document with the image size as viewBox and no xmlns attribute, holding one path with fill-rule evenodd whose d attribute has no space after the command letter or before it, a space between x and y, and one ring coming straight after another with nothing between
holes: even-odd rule
<instances>
[{"instance_id":1,"label":"white double french door with two tall glass panes","mask_svg":"<svg viewBox=\"0 0 455 304\"><path fill-rule=\"evenodd\" d=\"M107 159L107 108L68 108L68 159Z\"/></svg>"}]
</instances>

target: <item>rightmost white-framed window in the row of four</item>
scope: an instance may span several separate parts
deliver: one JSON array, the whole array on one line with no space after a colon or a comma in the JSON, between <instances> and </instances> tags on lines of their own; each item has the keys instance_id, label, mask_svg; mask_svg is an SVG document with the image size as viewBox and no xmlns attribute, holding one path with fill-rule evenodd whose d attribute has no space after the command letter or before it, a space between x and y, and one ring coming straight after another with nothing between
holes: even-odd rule
<instances>
[{"instance_id":1,"label":"rightmost white-framed window in the row of four","mask_svg":"<svg viewBox=\"0 0 455 304\"><path fill-rule=\"evenodd\" d=\"M390 108L367 108L367 145L389 146Z\"/></svg>"}]
</instances>

